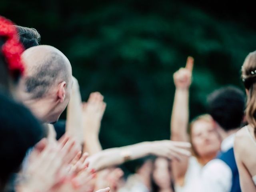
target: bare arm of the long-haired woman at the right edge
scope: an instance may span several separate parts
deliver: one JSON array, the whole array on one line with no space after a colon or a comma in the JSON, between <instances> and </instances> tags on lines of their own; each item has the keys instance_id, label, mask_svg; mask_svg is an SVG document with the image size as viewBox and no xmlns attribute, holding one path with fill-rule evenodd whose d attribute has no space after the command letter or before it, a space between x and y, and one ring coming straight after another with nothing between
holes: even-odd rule
<instances>
[{"instance_id":1,"label":"bare arm of the long-haired woman at the right edge","mask_svg":"<svg viewBox=\"0 0 256 192\"><path fill-rule=\"evenodd\" d=\"M252 176L248 172L246 166L244 165L242 158L243 158L243 144L242 138L236 135L235 142L234 142L234 153L236 158L236 165L238 167L239 172L239 180L240 180L240 187L243 192L256 192L256 186L252 181Z\"/></svg>"}]
</instances>

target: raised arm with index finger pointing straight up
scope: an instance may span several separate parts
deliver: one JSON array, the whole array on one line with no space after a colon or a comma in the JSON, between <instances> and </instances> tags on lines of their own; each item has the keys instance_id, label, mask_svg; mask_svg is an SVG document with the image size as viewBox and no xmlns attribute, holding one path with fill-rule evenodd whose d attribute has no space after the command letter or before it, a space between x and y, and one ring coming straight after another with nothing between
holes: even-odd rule
<instances>
[{"instance_id":1,"label":"raised arm with index finger pointing straight up","mask_svg":"<svg viewBox=\"0 0 256 192\"><path fill-rule=\"evenodd\" d=\"M173 141L188 141L188 100L193 65L194 59L192 57L188 57L186 67L180 68L180 70L174 73L174 84L176 86L176 90L170 123L171 140ZM183 157L182 161L174 161L172 164L176 182L179 185L183 185L184 176L188 168L188 157Z\"/></svg>"}]
</instances>

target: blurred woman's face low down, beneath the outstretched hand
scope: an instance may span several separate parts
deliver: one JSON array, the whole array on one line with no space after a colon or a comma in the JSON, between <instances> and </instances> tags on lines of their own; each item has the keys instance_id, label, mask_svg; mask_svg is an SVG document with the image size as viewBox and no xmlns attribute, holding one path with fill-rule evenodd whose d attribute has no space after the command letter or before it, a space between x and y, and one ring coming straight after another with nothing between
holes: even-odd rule
<instances>
[{"instance_id":1,"label":"blurred woman's face low down, beneath the outstretched hand","mask_svg":"<svg viewBox=\"0 0 256 192\"><path fill-rule=\"evenodd\" d=\"M159 188L171 186L170 162L165 158L157 158L154 162L153 179Z\"/></svg>"}]
</instances>

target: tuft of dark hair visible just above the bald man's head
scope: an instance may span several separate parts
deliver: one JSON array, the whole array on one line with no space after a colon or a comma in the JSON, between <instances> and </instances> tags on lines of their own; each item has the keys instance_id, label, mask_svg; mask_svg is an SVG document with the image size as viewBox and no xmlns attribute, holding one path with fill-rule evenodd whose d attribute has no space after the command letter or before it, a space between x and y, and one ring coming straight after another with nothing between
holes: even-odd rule
<instances>
[{"instance_id":1,"label":"tuft of dark hair visible just above the bald man's head","mask_svg":"<svg viewBox=\"0 0 256 192\"><path fill-rule=\"evenodd\" d=\"M20 42L23 44L25 49L33 46L39 45L40 34L34 28L22 27L16 25L18 30L18 36L20 37Z\"/></svg>"}]
</instances>

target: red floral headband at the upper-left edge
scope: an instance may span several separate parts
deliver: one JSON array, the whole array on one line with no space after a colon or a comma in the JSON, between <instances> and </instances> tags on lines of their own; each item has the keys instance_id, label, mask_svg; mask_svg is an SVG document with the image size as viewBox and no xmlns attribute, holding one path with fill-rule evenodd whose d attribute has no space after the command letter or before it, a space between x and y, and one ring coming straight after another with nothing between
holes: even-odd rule
<instances>
[{"instance_id":1,"label":"red floral headband at the upper-left edge","mask_svg":"<svg viewBox=\"0 0 256 192\"><path fill-rule=\"evenodd\" d=\"M0 36L6 40L2 46L2 54L8 64L8 69L12 76L22 75L24 65L21 60L21 54L24 51L23 45L19 41L18 32L14 24L0 16Z\"/></svg>"}]
</instances>

